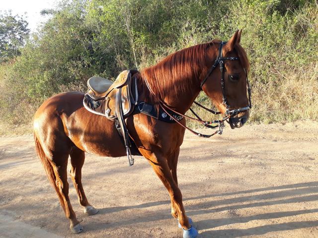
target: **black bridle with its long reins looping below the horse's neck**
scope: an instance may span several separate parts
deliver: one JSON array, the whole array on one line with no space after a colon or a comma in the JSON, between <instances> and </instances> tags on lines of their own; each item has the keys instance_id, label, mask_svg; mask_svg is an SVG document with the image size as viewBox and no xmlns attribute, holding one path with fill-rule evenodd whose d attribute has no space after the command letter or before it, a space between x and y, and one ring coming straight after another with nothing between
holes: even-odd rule
<instances>
[{"instance_id":1,"label":"black bridle with its long reins looping below the horse's neck","mask_svg":"<svg viewBox=\"0 0 318 238\"><path fill-rule=\"evenodd\" d=\"M209 78L209 76L211 75L211 73L213 72L214 69L217 68L218 65L220 65L220 71L221 71L221 87L222 87L222 94L223 94L223 104L226 106L227 108L227 111L225 112L225 117L221 120L213 120L213 121L205 121L205 120L202 120L194 111L193 109L190 108L190 111L193 113L193 115L196 117L195 118L192 118L192 117L189 117L187 115L184 115L184 114L181 114L181 113L178 113L176 112L175 110L173 110L172 108L170 108L163 100L160 99L160 106L162 108L162 110L168 115L170 116L170 118L172 118L173 120L175 120L178 124L180 124L182 127L190 130L192 133L194 133L195 135L199 136L199 137L206 137L206 138L209 138L211 137L212 135L215 135L215 134L222 134L223 132L223 128L224 128L224 121L228 120L228 119L231 119L233 118L234 116L236 116L237 114L239 114L240 112L244 112L244 111L247 111L249 109L252 108L252 103L251 103L251 91L250 91L250 87L249 87L249 82L248 82L248 77L247 77L247 72L245 70L245 73L246 73L246 87L247 87L247 93L248 93L248 106L246 107L242 107L242 108L238 108L238 109L233 109L233 110L230 110L230 105L227 101L227 98L226 98L226 93L225 93L225 81L224 81L224 64L225 64L225 60L239 60L238 57L226 57L224 58L223 57L223 54L222 54L222 49L223 49L223 46L226 44L227 42L226 41L222 41L220 44L219 44L219 53L218 53L218 57L217 59L214 61L214 64L209 68L208 72L207 72L207 75L205 76L205 78L202 80L201 82L201 90L202 90L202 87L204 85L204 83L207 81L207 79ZM148 87L148 89L153 92L151 90L151 88L149 87L149 84L147 82L147 79L146 79L146 85ZM202 90L203 91L203 90ZM215 112L211 109L208 109L206 107L204 107L203 105L201 105L200 103L198 102L195 102L194 103L196 105L198 105L199 107L203 108L204 110L214 114L214 115L218 115L218 114L221 114L221 112ZM201 134L201 133L198 133L192 129L190 129L189 127L183 125L180 121L178 121L177 119L175 119L171 114L169 114L167 112L166 109L169 109L170 111L182 116L182 117L185 117L185 118L188 118L188 119L192 119L192 120L195 120L201 124L203 124L205 127L208 127L208 128L217 128L219 127L218 130L216 130L214 133L212 134ZM211 125L211 124L218 124L218 125Z\"/></svg>"}]
</instances>

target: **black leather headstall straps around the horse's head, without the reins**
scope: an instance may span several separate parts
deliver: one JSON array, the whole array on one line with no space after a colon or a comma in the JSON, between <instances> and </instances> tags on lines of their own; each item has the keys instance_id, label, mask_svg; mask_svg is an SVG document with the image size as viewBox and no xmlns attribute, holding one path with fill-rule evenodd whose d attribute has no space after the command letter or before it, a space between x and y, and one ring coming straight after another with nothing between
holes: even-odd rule
<instances>
[{"instance_id":1,"label":"black leather headstall straps around the horse's head, without the reins","mask_svg":"<svg viewBox=\"0 0 318 238\"><path fill-rule=\"evenodd\" d=\"M223 57L223 53L222 53L222 48L223 46L226 44L226 41L222 41L219 44L219 54L218 54L218 58L214 61L214 64L212 65L212 67L209 69L207 75L205 76L205 78L203 79L203 81L201 82L201 90L202 87L204 85L204 83L207 81L207 79L209 78L209 76L211 75L211 73L213 72L214 69L216 69L216 67L218 66L218 64L220 64L220 71L221 71L221 87L222 87L222 94L223 94L223 104L226 106L227 111L225 113L226 116L229 116L230 118L239 114L240 112L249 110L250 108L252 108L252 103L251 103L251 92L250 92L250 88L249 88L249 82L248 82L248 77L247 77L247 72L244 69L245 73L246 73L246 84L247 84L247 93L248 93L248 106L247 107L243 107L243 108L238 108L238 109L233 109L230 110L230 104L227 101L227 98L225 96L225 81L224 81L224 64L225 64L225 60L239 60L238 57L227 57L224 58Z\"/></svg>"}]
</instances>

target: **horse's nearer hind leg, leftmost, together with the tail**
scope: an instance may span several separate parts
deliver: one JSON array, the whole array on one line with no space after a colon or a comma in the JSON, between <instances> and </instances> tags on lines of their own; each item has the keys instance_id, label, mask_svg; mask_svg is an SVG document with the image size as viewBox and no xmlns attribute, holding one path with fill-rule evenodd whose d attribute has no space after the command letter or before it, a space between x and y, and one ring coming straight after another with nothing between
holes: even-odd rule
<instances>
[{"instance_id":1,"label":"horse's nearer hind leg, leftmost, together with the tail","mask_svg":"<svg viewBox=\"0 0 318 238\"><path fill-rule=\"evenodd\" d=\"M69 198L69 183L67 181L68 153L56 153L51 151L52 156L47 157L39 140L35 136L35 147L46 174L58 194L61 206L66 217L70 220L72 233L80 233L83 227L79 224Z\"/></svg>"}]
</instances>

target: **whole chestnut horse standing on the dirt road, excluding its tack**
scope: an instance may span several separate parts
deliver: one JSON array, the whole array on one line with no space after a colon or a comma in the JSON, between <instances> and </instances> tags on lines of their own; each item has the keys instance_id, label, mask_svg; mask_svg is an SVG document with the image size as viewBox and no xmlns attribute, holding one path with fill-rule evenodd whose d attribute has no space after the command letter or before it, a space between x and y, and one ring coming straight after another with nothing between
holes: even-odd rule
<instances>
[{"instance_id":1,"label":"whole chestnut horse standing on the dirt road, excluding its tack","mask_svg":"<svg viewBox=\"0 0 318 238\"><path fill-rule=\"evenodd\" d=\"M160 107L160 100L175 111L185 114L201 90L212 103L225 114L227 110L246 108L247 72L249 63L239 45L241 31L219 48L220 41L214 40L178 51L157 65L137 72L139 100ZM211 65L221 55L227 57L224 70ZM226 59L226 58L224 58ZM207 76L208 75L208 76ZM235 77L234 77L234 76ZM225 87L221 86L221 78ZM201 83L204 84L201 85ZM46 100L35 113L34 138L37 155L47 176L55 188L73 233L82 231L69 199L67 181L68 158L71 157L70 175L76 188L79 203L87 215L98 212L87 200L81 183L81 168L85 152L108 157L126 155L115 122L88 112L82 105L83 93L66 92ZM226 103L223 101L226 97ZM227 108L226 106L230 106ZM240 127L249 117L244 108L233 118L231 127ZM185 125L183 118L180 121ZM131 139L139 152L153 167L171 199L171 214L183 228L183 237L197 237L182 204L178 188L177 161L185 128L178 123L167 123L145 114L131 115L126 119Z\"/></svg>"}]
</instances>

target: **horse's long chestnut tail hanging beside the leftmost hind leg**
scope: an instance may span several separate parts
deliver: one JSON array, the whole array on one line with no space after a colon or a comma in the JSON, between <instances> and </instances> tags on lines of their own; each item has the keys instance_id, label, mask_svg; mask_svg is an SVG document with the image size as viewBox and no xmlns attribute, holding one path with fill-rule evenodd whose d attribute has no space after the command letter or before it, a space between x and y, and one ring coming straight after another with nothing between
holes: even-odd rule
<instances>
[{"instance_id":1,"label":"horse's long chestnut tail hanging beside the leftmost hind leg","mask_svg":"<svg viewBox=\"0 0 318 238\"><path fill-rule=\"evenodd\" d=\"M39 139L36 137L35 133L34 133L34 141L35 141L36 154L37 154L38 158L40 159L40 161L45 169L45 172L46 172L46 175L48 176L48 179L52 183L52 186L55 188L56 193L59 196L59 199L60 199L60 202L61 202L63 209L65 210L63 197L61 196L59 188L56 184L57 180L56 180L56 176L55 176L54 169L53 169L53 164L52 164L53 162L51 162L50 158L48 158L45 155L45 152L40 144Z\"/></svg>"}]
</instances>

